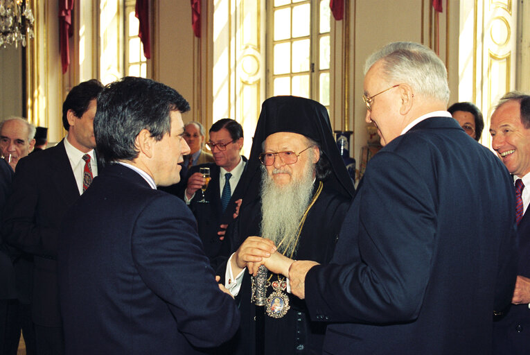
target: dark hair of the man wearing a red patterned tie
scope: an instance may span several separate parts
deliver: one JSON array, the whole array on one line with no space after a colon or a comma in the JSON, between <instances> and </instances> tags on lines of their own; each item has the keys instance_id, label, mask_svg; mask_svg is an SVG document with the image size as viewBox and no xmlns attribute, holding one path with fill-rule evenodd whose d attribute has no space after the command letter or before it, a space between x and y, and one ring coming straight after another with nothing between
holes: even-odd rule
<instances>
[{"instance_id":1,"label":"dark hair of the man wearing a red patterned tie","mask_svg":"<svg viewBox=\"0 0 530 355\"><path fill-rule=\"evenodd\" d=\"M65 130L70 129L68 123L68 111L72 110L78 119L87 112L90 101L98 97L103 89L99 80L91 79L84 81L77 86L72 87L67 95L66 100L62 103L62 126Z\"/></svg>"}]
</instances>

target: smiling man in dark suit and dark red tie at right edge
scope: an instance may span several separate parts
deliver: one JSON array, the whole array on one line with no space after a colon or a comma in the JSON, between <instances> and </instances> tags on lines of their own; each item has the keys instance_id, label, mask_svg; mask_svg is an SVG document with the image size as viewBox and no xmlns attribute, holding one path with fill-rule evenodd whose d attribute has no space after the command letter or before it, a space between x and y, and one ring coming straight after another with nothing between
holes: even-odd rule
<instances>
[{"instance_id":1,"label":"smiling man in dark suit and dark red tie at right edge","mask_svg":"<svg viewBox=\"0 0 530 355\"><path fill-rule=\"evenodd\" d=\"M509 92L491 115L493 149L513 174L518 276L512 304L493 324L495 354L530 354L530 95Z\"/></svg>"}]
</instances>

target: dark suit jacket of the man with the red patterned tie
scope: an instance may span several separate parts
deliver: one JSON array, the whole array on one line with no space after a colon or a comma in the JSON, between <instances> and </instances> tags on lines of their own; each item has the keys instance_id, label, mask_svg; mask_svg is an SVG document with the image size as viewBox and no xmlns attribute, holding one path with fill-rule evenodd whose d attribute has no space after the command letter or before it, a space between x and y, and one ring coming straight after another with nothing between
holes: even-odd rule
<instances>
[{"instance_id":1,"label":"dark suit jacket of the man with the red patterned tie","mask_svg":"<svg viewBox=\"0 0 530 355\"><path fill-rule=\"evenodd\" d=\"M34 255L33 322L60 327L57 235L64 213L79 198L64 143L20 159L12 191L3 238Z\"/></svg>"}]
</instances>

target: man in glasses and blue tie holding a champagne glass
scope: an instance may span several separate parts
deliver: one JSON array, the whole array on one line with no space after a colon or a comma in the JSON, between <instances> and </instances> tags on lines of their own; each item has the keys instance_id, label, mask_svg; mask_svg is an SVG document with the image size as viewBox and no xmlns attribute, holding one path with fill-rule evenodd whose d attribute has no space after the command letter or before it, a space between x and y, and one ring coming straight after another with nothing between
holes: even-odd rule
<instances>
[{"instance_id":1,"label":"man in glasses and blue tie holding a champagne glass","mask_svg":"<svg viewBox=\"0 0 530 355\"><path fill-rule=\"evenodd\" d=\"M211 149L215 163L200 164L190 170L184 201L197 218L199 236L204 252L216 268L219 263L224 230L233 220L236 201L240 198L241 176L245 172L247 158L240 155L243 147L243 128L233 119L220 119L213 123L206 143ZM209 168L211 181L204 191L205 179L200 168ZM223 257L223 256L222 256Z\"/></svg>"}]
</instances>

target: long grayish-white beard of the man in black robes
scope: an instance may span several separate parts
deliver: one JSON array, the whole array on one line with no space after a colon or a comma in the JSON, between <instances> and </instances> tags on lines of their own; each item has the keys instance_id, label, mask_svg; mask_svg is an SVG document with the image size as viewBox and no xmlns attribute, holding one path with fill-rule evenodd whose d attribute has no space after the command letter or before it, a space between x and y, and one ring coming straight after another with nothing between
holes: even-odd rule
<instances>
[{"instance_id":1,"label":"long grayish-white beard of the man in black robes","mask_svg":"<svg viewBox=\"0 0 530 355\"><path fill-rule=\"evenodd\" d=\"M278 186L261 166L261 236L274 242L278 251L291 257L297 250L300 220L312 198L315 164L307 160L299 181ZM274 172L281 169L274 169Z\"/></svg>"}]
</instances>

